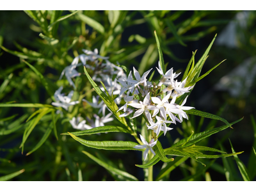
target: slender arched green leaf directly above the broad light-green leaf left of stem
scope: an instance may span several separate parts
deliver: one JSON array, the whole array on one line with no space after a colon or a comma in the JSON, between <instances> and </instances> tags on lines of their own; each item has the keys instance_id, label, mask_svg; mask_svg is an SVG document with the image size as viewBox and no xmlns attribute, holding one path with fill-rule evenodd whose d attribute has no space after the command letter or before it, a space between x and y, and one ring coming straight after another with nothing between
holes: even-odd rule
<instances>
[{"instance_id":1,"label":"slender arched green leaf directly above the broad light-green leaf left of stem","mask_svg":"<svg viewBox=\"0 0 256 192\"><path fill-rule=\"evenodd\" d=\"M106 125L102 127L95 127L93 129L87 129L83 131L76 131L76 132L70 132L74 136L81 136L86 134L97 134L101 132L127 132L130 133L127 129L124 129L123 127L115 126L115 125ZM61 133L64 135L69 135L67 132Z\"/></svg>"}]
</instances>

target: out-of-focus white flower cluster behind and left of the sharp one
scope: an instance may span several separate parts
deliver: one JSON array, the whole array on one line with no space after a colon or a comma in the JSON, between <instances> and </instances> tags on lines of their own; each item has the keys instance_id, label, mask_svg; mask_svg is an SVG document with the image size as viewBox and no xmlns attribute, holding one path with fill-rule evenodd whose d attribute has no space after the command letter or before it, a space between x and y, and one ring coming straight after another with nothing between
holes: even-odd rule
<instances>
[{"instance_id":1,"label":"out-of-focus white flower cluster behind and left of the sharp one","mask_svg":"<svg viewBox=\"0 0 256 192\"><path fill-rule=\"evenodd\" d=\"M75 77L81 76L81 73L77 72L77 67L79 66L85 66L86 68L90 69L93 73L92 79L93 81L104 83L106 90L109 93L113 93L113 95L119 95L121 86L120 84L117 83L118 80L124 79L125 73L124 70L121 67L118 67L111 63L108 60L108 57L103 57L98 54L98 50L94 49L94 51L88 51L83 49L84 54L80 54L74 60L72 61L71 65L68 67L65 67L64 70L61 72L60 79L65 77L67 78L68 83L70 86L76 90L76 85L72 79ZM81 61L81 63L79 63ZM114 79L114 80L113 80ZM105 92L103 86L100 85L100 89ZM63 86L61 86L56 92L54 93L54 99L56 102L52 102L53 106L61 107L64 108L66 111L68 111L68 107L78 104L79 101L72 101L72 95L74 91L72 90L70 93L68 93L67 96L64 96L64 93L61 93L63 90ZM77 117L73 117L72 120L70 120L70 124L74 129L79 129L79 130L85 130L85 129L92 129L93 127L99 127L99 126L104 126L106 122L111 122L113 121L113 118L111 117L112 113L106 112L106 104L103 102L103 100L100 100L99 96L97 97L92 97L92 102L82 99L83 102L86 102L92 108L96 108L99 110L99 113L93 114L92 118L89 119L87 118L87 122L90 125L86 124L86 120L80 114ZM116 103L120 102L120 99L115 100ZM108 108L107 108L108 109ZM110 111L111 112L111 111ZM60 111L58 111L60 113ZM100 115L102 113L102 115Z\"/></svg>"}]
</instances>

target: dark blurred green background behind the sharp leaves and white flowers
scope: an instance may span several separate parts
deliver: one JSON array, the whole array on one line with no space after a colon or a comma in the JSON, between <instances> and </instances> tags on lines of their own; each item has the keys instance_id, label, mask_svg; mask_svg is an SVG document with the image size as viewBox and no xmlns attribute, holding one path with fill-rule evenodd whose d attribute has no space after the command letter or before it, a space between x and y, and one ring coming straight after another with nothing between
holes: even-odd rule
<instances>
[{"instance_id":1,"label":"dark blurred green background behind the sharp leaves and white flowers","mask_svg":"<svg viewBox=\"0 0 256 192\"><path fill-rule=\"evenodd\" d=\"M23 59L33 64L40 71L51 90L55 90L67 81L59 81L63 68L70 65L82 49L99 49L100 55L109 56L109 61L125 65L129 70L136 67L140 74L156 67L158 52L154 31L163 49L164 61L168 68L184 72L192 51L196 52L195 60L204 54L205 49L217 33L216 41L209 52L202 74L220 61L204 80L196 83L188 99L188 106L200 111L217 114L228 122L244 116L234 125L234 129L212 136L205 141L205 146L218 146L222 141L225 151L232 152L227 138L232 141L236 152L244 151L239 158L247 166L250 178L255 177L255 157L252 157L252 146L255 148L256 130L253 132L252 119L255 111L256 91L256 12L255 11L42 11L43 22L36 22L26 12L0 11L0 102L42 103L51 104L51 96L36 74L24 63ZM49 25L63 15L70 15L55 24L49 32ZM46 22L46 23L45 23ZM43 35L40 35L42 33ZM46 37L45 37L46 36ZM155 74L156 76L156 74ZM154 77L155 77L154 76ZM180 77L181 78L181 77ZM178 77L179 79L179 77ZM180 81L180 79L179 79ZM77 180L79 173L83 180L116 180L104 168L81 154L92 148L79 145L76 141L59 136L57 141L52 133L42 147L33 154L25 156L19 149L22 141L25 121L35 108L0 108L0 177L25 169L21 175L12 180ZM15 116L13 116L15 115ZM10 120L6 117L13 116ZM204 131L210 125L221 126L221 122L205 119L202 127L200 118L192 117L192 125L178 125L169 132L168 142L189 134L189 126L197 131ZM12 122L16 122L12 125ZM42 132L49 121L36 125L31 133L25 151L29 151L42 137ZM209 125L210 124L210 125ZM9 125L17 131L2 134ZM182 127L183 126L183 127ZM64 128L65 127L65 128ZM187 127L187 129L186 129ZM200 127L200 128L198 128ZM211 127L211 126L210 126ZM198 128L198 129L197 129ZM58 121L58 134L74 131L68 122ZM182 131L183 129L183 131ZM129 140L131 138L118 134L91 136L90 140ZM70 139L70 140L69 140ZM170 145L170 144L169 144ZM116 166L143 180L143 170L135 167L141 161L140 152L109 152L98 150L97 157L111 159ZM254 159L253 159L254 158ZM234 157L228 157L234 168L234 180L243 180ZM110 161L109 161L110 162ZM160 172L163 163L154 166L154 177ZM180 180L195 174L202 165L187 160L184 166L176 168L166 180ZM227 180L223 172L223 159L217 159L207 170L212 180ZM206 170L205 170L206 172ZM204 173L205 173L204 172ZM68 174L70 173L70 174ZM205 180L205 174L194 180ZM255 180L255 179L254 179Z\"/></svg>"}]
</instances>

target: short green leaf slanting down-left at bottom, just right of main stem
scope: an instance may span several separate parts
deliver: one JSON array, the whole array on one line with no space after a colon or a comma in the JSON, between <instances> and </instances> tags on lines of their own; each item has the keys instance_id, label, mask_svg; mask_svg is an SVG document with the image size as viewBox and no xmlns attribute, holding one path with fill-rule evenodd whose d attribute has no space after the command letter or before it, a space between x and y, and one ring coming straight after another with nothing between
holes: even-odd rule
<instances>
[{"instance_id":1,"label":"short green leaf slanting down-left at bottom, just right of main stem","mask_svg":"<svg viewBox=\"0 0 256 192\"><path fill-rule=\"evenodd\" d=\"M188 157L177 157L174 161L167 164L165 168L163 168L160 173L157 175L156 180L161 180L164 176L168 175L172 170L177 168L181 163L186 161Z\"/></svg>"}]
</instances>

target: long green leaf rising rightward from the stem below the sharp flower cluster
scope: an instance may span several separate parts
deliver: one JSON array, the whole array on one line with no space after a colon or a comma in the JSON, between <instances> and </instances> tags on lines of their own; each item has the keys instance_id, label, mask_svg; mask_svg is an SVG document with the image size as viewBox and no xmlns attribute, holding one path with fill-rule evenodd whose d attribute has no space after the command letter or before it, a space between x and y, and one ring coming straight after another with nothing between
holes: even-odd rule
<instances>
[{"instance_id":1,"label":"long green leaf rising rightward from the stem below the sharp flower cluster","mask_svg":"<svg viewBox=\"0 0 256 192\"><path fill-rule=\"evenodd\" d=\"M235 122L232 122L230 125L233 125L233 124L236 124L237 122L241 121L243 118L240 118L239 120L236 120ZM184 147L188 147L190 145L193 145L195 143L197 143L198 141L200 140L203 140L204 138L207 138L209 136L211 136L212 134L215 134L217 132L220 132L220 131L223 131L224 129L227 129L229 126L228 125L223 125L221 127L218 127L218 128L214 128L214 129L211 129L211 130L207 130L207 131L203 131L203 132L199 132L197 134L194 134L190 140L188 141L188 143L186 143L186 145L184 145ZM175 147L181 147L181 145L187 141L187 138L184 138L182 140L180 140L179 142L175 143L172 145L172 147L169 147L169 148L165 148L164 149L164 152L166 150L170 150L170 149L173 149Z\"/></svg>"}]
</instances>

